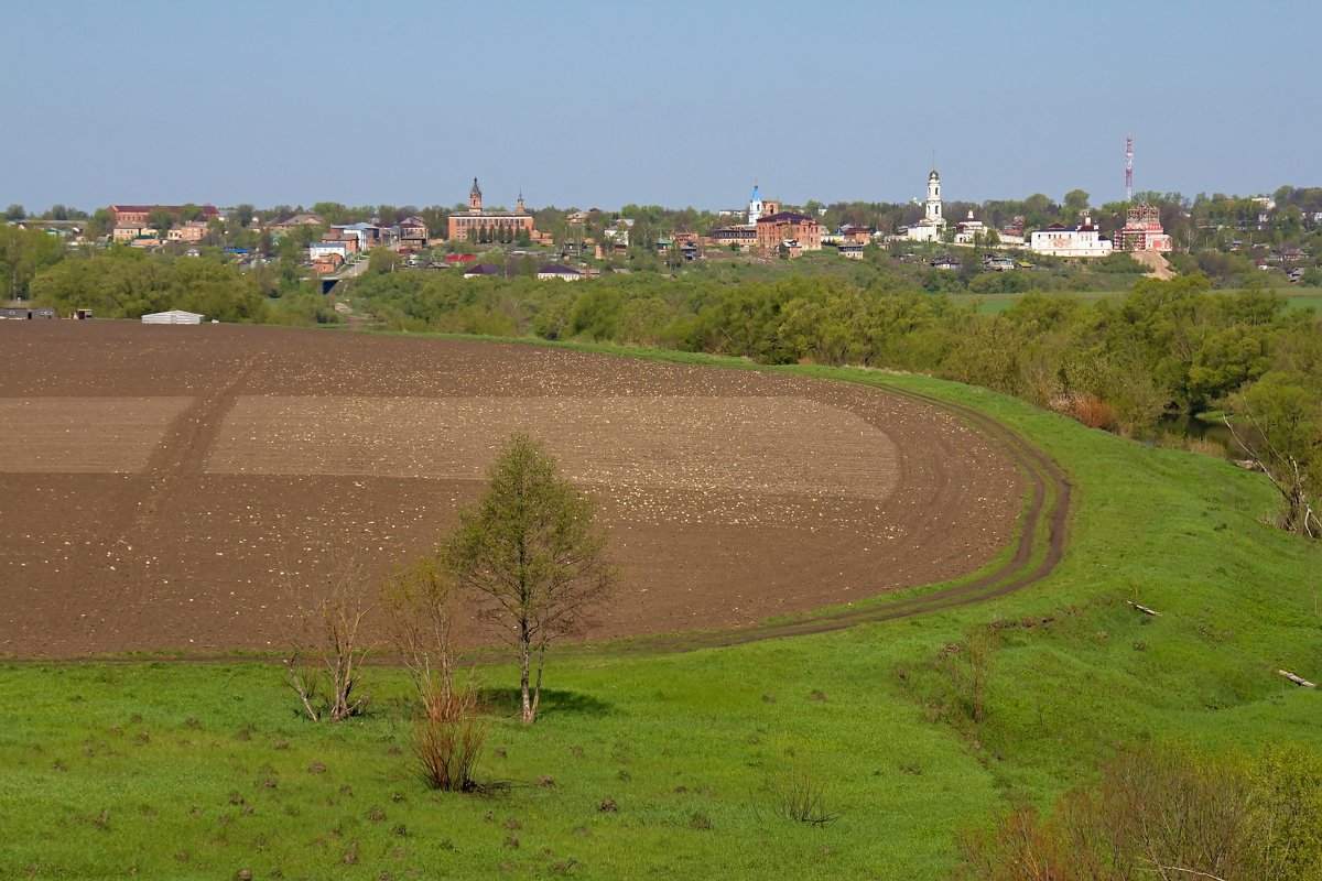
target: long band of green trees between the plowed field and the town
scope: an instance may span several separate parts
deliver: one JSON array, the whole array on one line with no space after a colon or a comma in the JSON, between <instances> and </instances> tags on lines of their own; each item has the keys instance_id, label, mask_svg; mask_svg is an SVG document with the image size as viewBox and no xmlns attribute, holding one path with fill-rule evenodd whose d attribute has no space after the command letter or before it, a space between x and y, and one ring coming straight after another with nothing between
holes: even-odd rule
<instances>
[{"instance_id":1,"label":"long band of green trees between the plowed field and the town","mask_svg":"<svg viewBox=\"0 0 1322 881\"><path fill-rule=\"evenodd\" d=\"M1166 413L1229 413L1288 501L1318 532L1322 333L1311 310L1202 275L1142 279L1116 300L1027 295L994 314L880 281L724 283L607 276L591 284L381 273L356 293L403 330L600 341L750 358L857 365L984 386L1096 428L1153 437ZM1252 437L1252 441L1248 439Z\"/></svg>"}]
</instances>

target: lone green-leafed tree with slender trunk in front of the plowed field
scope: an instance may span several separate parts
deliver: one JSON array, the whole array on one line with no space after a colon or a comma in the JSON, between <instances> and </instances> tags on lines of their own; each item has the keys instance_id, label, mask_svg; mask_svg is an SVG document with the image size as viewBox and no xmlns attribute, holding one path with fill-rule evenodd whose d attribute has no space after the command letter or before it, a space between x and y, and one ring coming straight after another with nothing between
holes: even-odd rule
<instances>
[{"instance_id":1,"label":"lone green-leafed tree with slender trunk in front of the plowed field","mask_svg":"<svg viewBox=\"0 0 1322 881\"><path fill-rule=\"evenodd\" d=\"M460 514L440 556L455 582L473 594L479 617L517 647L522 719L530 724L547 647L582 631L616 573L592 497L561 476L541 444L513 436L486 481L486 493Z\"/></svg>"}]
</instances>

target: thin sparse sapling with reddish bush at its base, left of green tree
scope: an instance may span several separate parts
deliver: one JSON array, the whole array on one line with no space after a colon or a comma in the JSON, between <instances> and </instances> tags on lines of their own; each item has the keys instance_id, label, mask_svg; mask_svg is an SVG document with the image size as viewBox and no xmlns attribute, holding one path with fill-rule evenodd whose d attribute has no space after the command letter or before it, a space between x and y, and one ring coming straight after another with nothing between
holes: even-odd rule
<instances>
[{"instance_id":1,"label":"thin sparse sapling with reddish bush at its base, left of green tree","mask_svg":"<svg viewBox=\"0 0 1322 881\"><path fill-rule=\"evenodd\" d=\"M453 580L432 557L398 569L382 585L393 642L418 691L412 752L432 789L477 789L473 769L486 740L486 724L469 678L456 683L457 597Z\"/></svg>"}]
</instances>

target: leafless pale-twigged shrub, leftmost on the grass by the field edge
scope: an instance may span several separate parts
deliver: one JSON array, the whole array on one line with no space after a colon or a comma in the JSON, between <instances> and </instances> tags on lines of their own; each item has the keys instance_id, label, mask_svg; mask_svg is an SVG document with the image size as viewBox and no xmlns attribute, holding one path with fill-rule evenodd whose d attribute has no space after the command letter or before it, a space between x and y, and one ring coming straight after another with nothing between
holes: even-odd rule
<instances>
[{"instance_id":1,"label":"leafless pale-twigged shrub, leftmost on the grass by the field edge","mask_svg":"<svg viewBox=\"0 0 1322 881\"><path fill-rule=\"evenodd\" d=\"M369 646L361 631L369 606L362 567L348 561L337 567L315 605L299 608L299 634L284 659L286 683L312 721L344 721L368 704L361 668Z\"/></svg>"}]
</instances>

